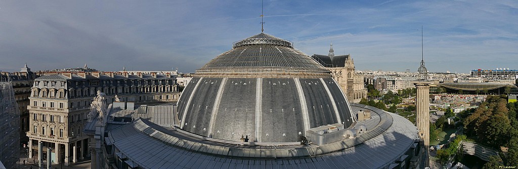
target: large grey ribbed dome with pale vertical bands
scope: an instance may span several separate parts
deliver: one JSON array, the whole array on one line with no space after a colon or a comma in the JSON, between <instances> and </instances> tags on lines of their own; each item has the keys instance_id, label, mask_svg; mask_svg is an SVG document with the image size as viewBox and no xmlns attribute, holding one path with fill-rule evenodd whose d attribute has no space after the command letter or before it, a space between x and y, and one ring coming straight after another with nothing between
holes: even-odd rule
<instances>
[{"instance_id":1,"label":"large grey ribbed dome with pale vertical bands","mask_svg":"<svg viewBox=\"0 0 518 169\"><path fill-rule=\"evenodd\" d=\"M327 69L265 33L237 41L198 69L177 113L182 130L262 143L298 142L311 128L355 121Z\"/></svg>"}]
</instances>

